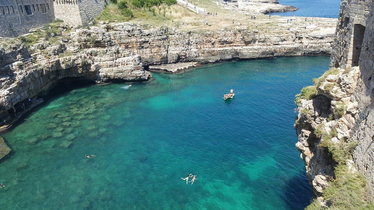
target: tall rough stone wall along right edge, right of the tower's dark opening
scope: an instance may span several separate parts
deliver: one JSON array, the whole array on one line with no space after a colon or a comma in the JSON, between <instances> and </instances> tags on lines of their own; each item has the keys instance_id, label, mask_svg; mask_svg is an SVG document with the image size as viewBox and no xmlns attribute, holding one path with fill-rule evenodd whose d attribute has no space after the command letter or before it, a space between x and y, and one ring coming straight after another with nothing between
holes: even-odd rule
<instances>
[{"instance_id":1,"label":"tall rough stone wall along right edge, right of the tower's dark opening","mask_svg":"<svg viewBox=\"0 0 374 210\"><path fill-rule=\"evenodd\" d=\"M361 76L353 97L358 102L356 123L352 139L359 142L353 153L353 160L368 180L374 198L374 1L365 23L366 30L362 45L359 68Z\"/></svg>"}]
</instances>

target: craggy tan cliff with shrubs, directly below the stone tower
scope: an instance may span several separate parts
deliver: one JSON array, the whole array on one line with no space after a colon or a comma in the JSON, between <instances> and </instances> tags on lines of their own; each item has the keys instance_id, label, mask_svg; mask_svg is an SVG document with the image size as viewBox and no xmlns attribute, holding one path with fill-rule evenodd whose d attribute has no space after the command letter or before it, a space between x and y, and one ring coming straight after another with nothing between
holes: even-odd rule
<instances>
[{"instance_id":1,"label":"craggy tan cliff with shrubs, directly below the stone tower","mask_svg":"<svg viewBox=\"0 0 374 210\"><path fill-rule=\"evenodd\" d=\"M334 167L340 158L341 163L348 164L353 172L356 170L351 155L347 161L344 157L334 157L326 145L331 142L346 146L355 142L352 129L357 102L352 94L358 77L358 67L329 70L315 81L318 84L315 98L301 99L298 106L295 129L299 140L296 147L301 152L316 197L321 197L324 189L329 187L328 182L334 179Z\"/></svg>"}]
</instances>

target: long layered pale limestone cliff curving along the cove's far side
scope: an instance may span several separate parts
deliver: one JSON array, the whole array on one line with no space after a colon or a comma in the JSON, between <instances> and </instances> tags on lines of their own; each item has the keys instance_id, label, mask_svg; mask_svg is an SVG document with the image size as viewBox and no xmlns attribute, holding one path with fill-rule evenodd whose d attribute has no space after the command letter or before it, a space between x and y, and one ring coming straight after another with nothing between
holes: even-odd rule
<instances>
[{"instance_id":1,"label":"long layered pale limestone cliff curving along the cove's far side","mask_svg":"<svg viewBox=\"0 0 374 210\"><path fill-rule=\"evenodd\" d=\"M1 112L61 81L148 80L148 65L328 54L332 41L332 34L312 30L264 35L248 28L177 31L129 24L80 29L53 44L38 41L29 49L15 40L0 51Z\"/></svg>"}]
</instances>

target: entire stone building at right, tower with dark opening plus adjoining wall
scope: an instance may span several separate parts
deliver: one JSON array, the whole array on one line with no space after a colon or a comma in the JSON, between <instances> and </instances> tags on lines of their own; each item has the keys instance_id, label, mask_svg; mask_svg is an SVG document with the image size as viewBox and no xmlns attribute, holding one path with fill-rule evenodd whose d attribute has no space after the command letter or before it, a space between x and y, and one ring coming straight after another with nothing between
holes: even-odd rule
<instances>
[{"instance_id":1,"label":"entire stone building at right, tower with dark opening plus adjoining wall","mask_svg":"<svg viewBox=\"0 0 374 210\"><path fill-rule=\"evenodd\" d=\"M374 1L341 2L330 67L359 67L351 101L356 106L353 160L364 173L374 198Z\"/></svg>"}]
</instances>

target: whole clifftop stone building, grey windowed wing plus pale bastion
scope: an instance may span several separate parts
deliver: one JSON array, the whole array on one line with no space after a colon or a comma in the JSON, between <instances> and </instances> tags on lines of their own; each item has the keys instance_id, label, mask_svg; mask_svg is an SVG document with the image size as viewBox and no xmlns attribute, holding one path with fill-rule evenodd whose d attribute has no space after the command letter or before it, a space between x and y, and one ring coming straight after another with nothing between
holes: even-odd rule
<instances>
[{"instance_id":1,"label":"whole clifftop stone building, grey windowed wing plus pale bastion","mask_svg":"<svg viewBox=\"0 0 374 210\"><path fill-rule=\"evenodd\" d=\"M54 19L86 25L104 9L106 0L1 0L0 37L26 34Z\"/></svg>"}]
</instances>

